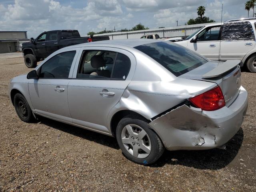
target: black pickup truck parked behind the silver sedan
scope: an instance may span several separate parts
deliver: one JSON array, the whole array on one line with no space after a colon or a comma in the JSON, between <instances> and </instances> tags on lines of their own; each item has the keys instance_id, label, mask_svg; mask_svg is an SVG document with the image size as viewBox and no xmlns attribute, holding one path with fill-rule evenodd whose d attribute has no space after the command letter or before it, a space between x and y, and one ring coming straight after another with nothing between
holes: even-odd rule
<instances>
[{"instance_id":1,"label":"black pickup truck parked behind the silver sedan","mask_svg":"<svg viewBox=\"0 0 256 192\"><path fill-rule=\"evenodd\" d=\"M36 39L22 44L22 53L28 68L36 67L38 61L44 60L56 50L81 43L109 40L109 36L81 37L78 30L54 30L41 33Z\"/></svg>"}]
</instances>

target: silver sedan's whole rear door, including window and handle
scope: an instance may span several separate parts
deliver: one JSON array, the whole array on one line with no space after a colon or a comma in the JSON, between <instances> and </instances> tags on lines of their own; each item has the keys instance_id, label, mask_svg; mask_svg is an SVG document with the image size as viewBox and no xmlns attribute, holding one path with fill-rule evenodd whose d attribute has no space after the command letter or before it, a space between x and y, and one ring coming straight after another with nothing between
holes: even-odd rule
<instances>
[{"instance_id":1,"label":"silver sedan's whole rear door, including window and handle","mask_svg":"<svg viewBox=\"0 0 256 192\"><path fill-rule=\"evenodd\" d=\"M128 51L106 47L83 49L80 57L68 84L72 121L86 128L109 132L108 113L132 79L135 57ZM93 57L101 63L91 62Z\"/></svg>"}]
</instances>

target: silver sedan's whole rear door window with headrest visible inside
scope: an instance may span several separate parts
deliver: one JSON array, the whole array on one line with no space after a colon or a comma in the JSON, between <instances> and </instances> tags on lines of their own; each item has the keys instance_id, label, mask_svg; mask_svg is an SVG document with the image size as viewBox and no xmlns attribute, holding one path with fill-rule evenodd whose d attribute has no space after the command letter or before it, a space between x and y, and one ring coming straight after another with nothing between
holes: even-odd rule
<instances>
[{"instance_id":1,"label":"silver sedan's whole rear door window with headrest visible inside","mask_svg":"<svg viewBox=\"0 0 256 192\"><path fill-rule=\"evenodd\" d=\"M128 56L106 50L84 51L77 78L126 79L130 70Z\"/></svg>"}]
</instances>

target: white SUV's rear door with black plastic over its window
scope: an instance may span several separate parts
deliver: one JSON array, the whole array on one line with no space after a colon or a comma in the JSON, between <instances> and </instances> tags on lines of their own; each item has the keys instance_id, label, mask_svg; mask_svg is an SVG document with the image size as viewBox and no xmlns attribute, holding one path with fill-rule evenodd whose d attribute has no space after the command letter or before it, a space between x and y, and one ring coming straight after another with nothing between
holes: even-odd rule
<instances>
[{"instance_id":1,"label":"white SUV's rear door with black plastic over its window","mask_svg":"<svg viewBox=\"0 0 256 192\"><path fill-rule=\"evenodd\" d=\"M254 26L248 21L224 23L220 60L242 60L255 47Z\"/></svg>"}]
</instances>

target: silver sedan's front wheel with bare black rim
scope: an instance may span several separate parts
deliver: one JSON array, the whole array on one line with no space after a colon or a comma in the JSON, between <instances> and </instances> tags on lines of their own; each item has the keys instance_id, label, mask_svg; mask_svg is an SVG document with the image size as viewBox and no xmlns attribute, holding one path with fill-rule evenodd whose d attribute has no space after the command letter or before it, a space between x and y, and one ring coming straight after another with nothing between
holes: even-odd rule
<instances>
[{"instance_id":1,"label":"silver sedan's front wheel with bare black rim","mask_svg":"<svg viewBox=\"0 0 256 192\"><path fill-rule=\"evenodd\" d=\"M22 94L17 93L14 96L14 107L17 115L22 121L28 123L33 122L35 120L31 108L28 105L26 98Z\"/></svg>"}]
</instances>

